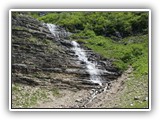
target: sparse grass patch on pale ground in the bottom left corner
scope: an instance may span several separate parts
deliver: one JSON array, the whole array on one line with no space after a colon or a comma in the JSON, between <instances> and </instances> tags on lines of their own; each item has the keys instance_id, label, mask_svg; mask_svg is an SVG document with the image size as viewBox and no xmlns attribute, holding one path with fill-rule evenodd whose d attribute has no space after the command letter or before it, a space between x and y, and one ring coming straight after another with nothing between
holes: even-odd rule
<instances>
[{"instance_id":1,"label":"sparse grass patch on pale ground in the bottom left corner","mask_svg":"<svg viewBox=\"0 0 160 120\"><path fill-rule=\"evenodd\" d=\"M59 96L58 88L32 87L12 84L12 107L32 108L41 101L49 100L49 96Z\"/></svg>"}]
</instances>

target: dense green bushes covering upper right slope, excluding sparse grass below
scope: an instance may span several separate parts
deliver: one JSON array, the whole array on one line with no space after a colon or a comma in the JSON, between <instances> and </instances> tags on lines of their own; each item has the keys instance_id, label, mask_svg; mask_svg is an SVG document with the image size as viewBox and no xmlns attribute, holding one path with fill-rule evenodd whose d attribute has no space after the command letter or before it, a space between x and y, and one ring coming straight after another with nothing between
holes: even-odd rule
<instances>
[{"instance_id":1,"label":"dense green bushes covering upper right slope, excluding sparse grass below","mask_svg":"<svg viewBox=\"0 0 160 120\"><path fill-rule=\"evenodd\" d=\"M81 42L122 71L132 65L136 74L147 73L148 12L52 12L38 19L64 27L74 39L88 39Z\"/></svg>"}]
</instances>

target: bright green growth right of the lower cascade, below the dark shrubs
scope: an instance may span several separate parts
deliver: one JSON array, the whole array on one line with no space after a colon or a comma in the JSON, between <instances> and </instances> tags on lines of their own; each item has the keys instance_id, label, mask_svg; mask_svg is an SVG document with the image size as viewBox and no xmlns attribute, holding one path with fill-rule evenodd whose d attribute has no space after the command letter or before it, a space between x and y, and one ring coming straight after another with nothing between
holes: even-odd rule
<instances>
[{"instance_id":1,"label":"bright green growth right of the lower cascade, below the dark shrubs","mask_svg":"<svg viewBox=\"0 0 160 120\"><path fill-rule=\"evenodd\" d=\"M132 40L132 42L131 42ZM129 65L138 76L148 74L148 36L131 36L120 41L96 36L87 40L78 40L102 56L113 61L119 70L126 70Z\"/></svg>"}]
</instances>

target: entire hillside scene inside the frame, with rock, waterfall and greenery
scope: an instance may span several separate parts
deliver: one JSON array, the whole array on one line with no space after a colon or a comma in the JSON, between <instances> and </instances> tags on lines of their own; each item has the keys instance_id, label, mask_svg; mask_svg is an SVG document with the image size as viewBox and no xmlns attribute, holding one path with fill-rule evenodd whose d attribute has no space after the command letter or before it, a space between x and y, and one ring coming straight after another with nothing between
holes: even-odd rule
<instances>
[{"instance_id":1,"label":"entire hillside scene inside the frame, with rock, waterfall and greenery","mask_svg":"<svg viewBox=\"0 0 160 120\"><path fill-rule=\"evenodd\" d=\"M13 12L12 108L148 108L148 13Z\"/></svg>"}]
</instances>

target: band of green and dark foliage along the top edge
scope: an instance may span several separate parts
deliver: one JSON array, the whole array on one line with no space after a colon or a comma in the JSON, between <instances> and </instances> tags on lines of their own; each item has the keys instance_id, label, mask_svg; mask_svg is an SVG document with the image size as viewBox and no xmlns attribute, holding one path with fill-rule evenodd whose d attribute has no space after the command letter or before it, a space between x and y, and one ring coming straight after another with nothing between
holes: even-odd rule
<instances>
[{"instance_id":1,"label":"band of green and dark foliage along the top edge","mask_svg":"<svg viewBox=\"0 0 160 120\"><path fill-rule=\"evenodd\" d=\"M101 36L126 37L148 32L147 12L52 12L38 19L73 33L89 30Z\"/></svg>"}]
</instances>

